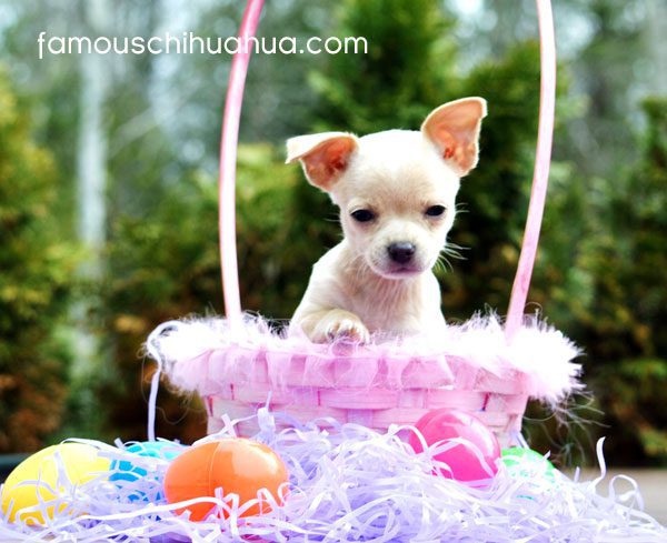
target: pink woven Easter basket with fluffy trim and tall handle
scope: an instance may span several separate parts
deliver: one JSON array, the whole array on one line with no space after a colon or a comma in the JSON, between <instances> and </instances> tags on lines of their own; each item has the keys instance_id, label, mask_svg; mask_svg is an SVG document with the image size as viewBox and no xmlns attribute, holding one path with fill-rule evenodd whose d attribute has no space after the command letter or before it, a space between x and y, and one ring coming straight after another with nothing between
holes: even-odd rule
<instances>
[{"instance_id":1,"label":"pink woven Easter basket with fluffy trim and tall handle","mask_svg":"<svg viewBox=\"0 0 667 543\"><path fill-rule=\"evenodd\" d=\"M249 0L239 37L255 36L262 0ZM220 247L226 319L172 321L149 338L149 350L171 383L199 393L208 430L238 420L253 434L267 403L279 424L359 423L379 431L414 424L438 408L457 408L485 422L504 445L517 442L530 399L561 401L580 388L578 349L537 318L526 318L546 198L554 127L556 52L548 1L538 1L541 44L539 133L528 219L505 324L475 315L445 335L376 338L367 345L313 344L275 332L241 310L236 255L236 152L250 51L235 56L227 91L220 159Z\"/></svg>"}]
</instances>

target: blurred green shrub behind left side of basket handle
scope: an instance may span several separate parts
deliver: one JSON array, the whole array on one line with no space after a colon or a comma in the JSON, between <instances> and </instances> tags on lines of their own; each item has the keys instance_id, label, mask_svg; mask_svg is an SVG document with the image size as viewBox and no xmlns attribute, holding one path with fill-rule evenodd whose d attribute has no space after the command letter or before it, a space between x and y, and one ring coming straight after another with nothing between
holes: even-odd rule
<instances>
[{"instance_id":1,"label":"blurred green shrub behind left side of basket handle","mask_svg":"<svg viewBox=\"0 0 667 543\"><path fill-rule=\"evenodd\" d=\"M295 258L290 238L297 170L283 162L281 152L267 144L239 148L241 300L243 309L272 318L291 315L309 274L309 267ZM107 259L101 295L115 372L97 395L109 409L108 438L122 429L123 439L143 439L147 394L138 391L147 392L152 368L143 366L139 345L161 322L222 313L216 180L192 173L166 189L152 214L119 220ZM188 400L185 408L182 399L167 391L159 399L163 415L158 418L158 435L186 441L201 436L206 416L198 402Z\"/></svg>"}]
</instances>

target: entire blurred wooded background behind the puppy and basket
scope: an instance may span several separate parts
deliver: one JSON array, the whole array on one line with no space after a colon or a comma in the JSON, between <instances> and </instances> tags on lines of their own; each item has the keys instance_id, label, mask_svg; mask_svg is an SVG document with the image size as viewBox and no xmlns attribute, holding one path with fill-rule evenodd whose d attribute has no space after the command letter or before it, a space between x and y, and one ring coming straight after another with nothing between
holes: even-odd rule
<instances>
[{"instance_id":1,"label":"entire blurred wooded background behind the puppy and basket","mask_svg":"<svg viewBox=\"0 0 667 543\"><path fill-rule=\"evenodd\" d=\"M578 342L591 394L531 406L538 450L667 464L667 2L558 0L557 133L527 311ZM242 2L0 0L0 453L142 439L160 322L221 313L217 160L228 56L38 58L37 37L232 36ZM283 165L287 137L417 129L489 102L440 273L450 320L506 311L535 155L531 1L271 0L266 37L362 36L368 54L256 56L239 149L245 308L289 318L336 210ZM535 353L535 363L540 353ZM205 432L165 390L158 434Z\"/></svg>"}]
</instances>

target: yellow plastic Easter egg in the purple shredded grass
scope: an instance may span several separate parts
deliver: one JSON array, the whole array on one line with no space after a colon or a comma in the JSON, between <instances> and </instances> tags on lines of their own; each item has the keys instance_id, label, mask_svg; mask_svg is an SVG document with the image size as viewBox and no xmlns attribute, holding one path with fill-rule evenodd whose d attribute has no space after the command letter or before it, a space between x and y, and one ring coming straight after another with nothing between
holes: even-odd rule
<instances>
[{"instance_id":1,"label":"yellow plastic Easter egg in the purple shredded grass","mask_svg":"<svg viewBox=\"0 0 667 543\"><path fill-rule=\"evenodd\" d=\"M81 443L51 445L27 457L9 474L2 487L2 512L9 512L10 522L18 517L28 524L43 524L42 513L52 519L56 509L48 504L57 497L51 490L81 485L108 471L109 459L99 456L94 446ZM47 502L40 511L21 511L40 502ZM57 512L66 509L67 504L61 503Z\"/></svg>"}]
</instances>

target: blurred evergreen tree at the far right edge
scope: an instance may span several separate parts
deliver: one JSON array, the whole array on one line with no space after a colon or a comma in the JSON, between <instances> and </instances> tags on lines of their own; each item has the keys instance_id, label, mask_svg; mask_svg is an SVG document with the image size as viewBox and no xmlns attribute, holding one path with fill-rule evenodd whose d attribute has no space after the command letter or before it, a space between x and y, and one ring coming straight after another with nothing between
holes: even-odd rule
<instances>
[{"instance_id":1,"label":"blurred evergreen tree at the far right edge","mask_svg":"<svg viewBox=\"0 0 667 543\"><path fill-rule=\"evenodd\" d=\"M615 185L600 213L594 303L583 315L587 373L606 411L623 462L667 461L667 99L644 102L643 157L627 182Z\"/></svg>"}]
</instances>

